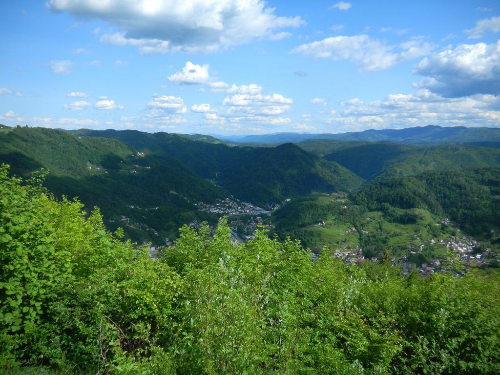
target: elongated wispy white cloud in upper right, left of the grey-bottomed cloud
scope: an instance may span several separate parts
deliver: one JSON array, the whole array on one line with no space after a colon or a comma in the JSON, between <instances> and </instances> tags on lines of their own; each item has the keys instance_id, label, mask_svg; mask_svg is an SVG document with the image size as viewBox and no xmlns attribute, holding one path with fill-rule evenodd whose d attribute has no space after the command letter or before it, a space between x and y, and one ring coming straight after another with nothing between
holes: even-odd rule
<instances>
[{"instance_id":1,"label":"elongated wispy white cloud in upper right, left of the grey-bottomed cloud","mask_svg":"<svg viewBox=\"0 0 500 375\"><path fill-rule=\"evenodd\" d=\"M351 60L361 71L377 71L429 54L434 48L434 44L418 37L398 45L387 45L383 41L361 34L327 37L299 45L290 53L302 53L315 58Z\"/></svg>"}]
</instances>

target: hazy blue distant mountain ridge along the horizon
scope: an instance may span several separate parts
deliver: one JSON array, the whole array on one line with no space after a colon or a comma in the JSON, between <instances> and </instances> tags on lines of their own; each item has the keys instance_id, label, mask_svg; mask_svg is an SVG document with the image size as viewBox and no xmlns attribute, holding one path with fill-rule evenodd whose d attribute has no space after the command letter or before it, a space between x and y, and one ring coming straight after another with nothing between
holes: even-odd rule
<instances>
[{"instance_id":1,"label":"hazy blue distant mountain ridge along the horizon","mask_svg":"<svg viewBox=\"0 0 500 375\"><path fill-rule=\"evenodd\" d=\"M438 125L414 126L403 129L369 129L346 133L293 133L281 132L256 135L213 135L236 143L285 143L307 139L336 139L359 141L391 141L406 144L500 142L500 127L466 127Z\"/></svg>"}]
</instances>

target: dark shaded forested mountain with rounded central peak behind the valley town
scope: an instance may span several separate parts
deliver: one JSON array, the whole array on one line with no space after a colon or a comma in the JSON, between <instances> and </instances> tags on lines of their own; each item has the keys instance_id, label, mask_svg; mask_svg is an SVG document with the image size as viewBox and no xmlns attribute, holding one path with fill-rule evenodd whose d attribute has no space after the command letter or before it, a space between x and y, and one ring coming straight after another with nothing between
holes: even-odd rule
<instances>
[{"instance_id":1,"label":"dark shaded forested mountain with rounded central peak behind the valley town","mask_svg":"<svg viewBox=\"0 0 500 375\"><path fill-rule=\"evenodd\" d=\"M351 191L362 182L337 163L321 160L291 143L278 147L230 147L164 132L84 133L119 139L141 151L175 157L202 177L214 179L236 198L264 206L314 190Z\"/></svg>"}]
</instances>

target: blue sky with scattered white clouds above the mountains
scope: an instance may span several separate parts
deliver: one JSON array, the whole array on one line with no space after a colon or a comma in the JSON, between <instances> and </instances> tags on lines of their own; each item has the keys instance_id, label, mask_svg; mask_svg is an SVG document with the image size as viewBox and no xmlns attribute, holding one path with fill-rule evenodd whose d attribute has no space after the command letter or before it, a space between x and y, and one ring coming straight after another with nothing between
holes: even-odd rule
<instances>
[{"instance_id":1,"label":"blue sky with scattered white clouds above the mountains","mask_svg":"<svg viewBox=\"0 0 500 375\"><path fill-rule=\"evenodd\" d=\"M2 1L0 35L7 125L500 125L497 1Z\"/></svg>"}]
</instances>

